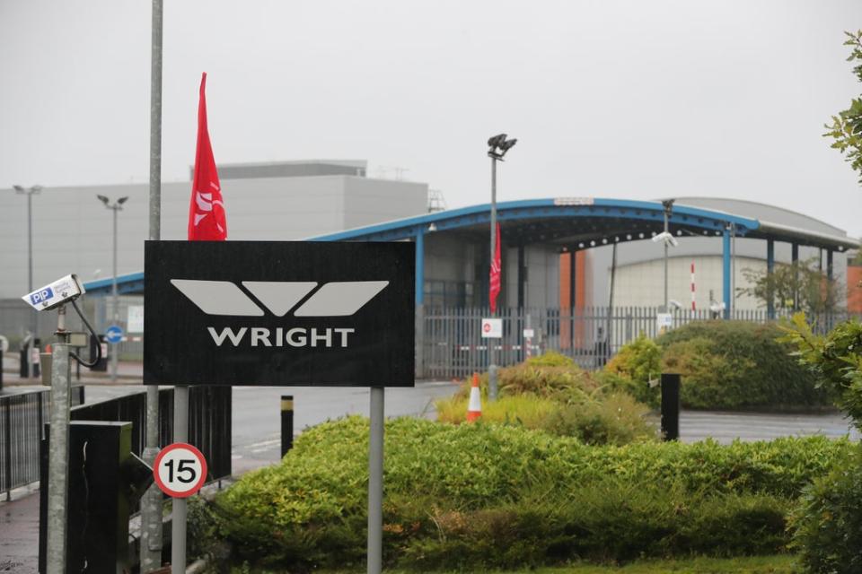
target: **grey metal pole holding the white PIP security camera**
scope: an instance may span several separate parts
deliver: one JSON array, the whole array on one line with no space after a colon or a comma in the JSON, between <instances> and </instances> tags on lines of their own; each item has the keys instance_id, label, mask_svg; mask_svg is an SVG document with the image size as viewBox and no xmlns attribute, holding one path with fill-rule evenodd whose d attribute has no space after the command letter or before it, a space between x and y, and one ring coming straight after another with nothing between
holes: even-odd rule
<instances>
[{"instance_id":1,"label":"grey metal pole holding the white PIP security camera","mask_svg":"<svg viewBox=\"0 0 862 574\"><path fill-rule=\"evenodd\" d=\"M66 574L66 513L69 466L69 345L66 335L51 357L51 431L48 451L48 574Z\"/></svg>"}]
</instances>

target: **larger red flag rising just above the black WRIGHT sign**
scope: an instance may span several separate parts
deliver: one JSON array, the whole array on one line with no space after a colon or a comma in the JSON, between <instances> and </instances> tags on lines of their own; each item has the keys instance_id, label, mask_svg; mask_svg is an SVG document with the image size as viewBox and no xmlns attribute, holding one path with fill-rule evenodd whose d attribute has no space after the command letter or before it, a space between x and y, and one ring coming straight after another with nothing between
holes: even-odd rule
<instances>
[{"instance_id":1,"label":"larger red flag rising just above the black WRIGHT sign","mask_svg":"<svg viewBox=\"0 0 862 574\"><path fill-rule=\"evenodd\" d=\"M195 177L191 183L189 241L224 241L227 239L227 218L213 147L209 143L206 88L207 73L204 72L200 78L198 150L195 152Z\"/></svg>"}]
</instances>

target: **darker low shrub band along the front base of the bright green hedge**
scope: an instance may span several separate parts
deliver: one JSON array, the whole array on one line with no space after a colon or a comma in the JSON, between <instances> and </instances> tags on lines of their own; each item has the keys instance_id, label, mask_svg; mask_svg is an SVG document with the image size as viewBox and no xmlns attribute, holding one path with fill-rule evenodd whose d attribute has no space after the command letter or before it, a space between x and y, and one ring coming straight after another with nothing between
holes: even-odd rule
<instances>
[{"instance_id":1,"label":"darker low shrub band along the front base of the bright green hedge","mask_svg":"<svg viewBox=\"0 0 862 574\"><path fill-rule=\"evenodd\" d=\"M719 555L771 554L787 544L786 510L787 500L765 495L699 498L642 484L593 484L565 497L494 509L435 509L430 524L389 560L418 571L488 571L574 558L688 555L692 547Z\"/></svg>"}]
</instances>

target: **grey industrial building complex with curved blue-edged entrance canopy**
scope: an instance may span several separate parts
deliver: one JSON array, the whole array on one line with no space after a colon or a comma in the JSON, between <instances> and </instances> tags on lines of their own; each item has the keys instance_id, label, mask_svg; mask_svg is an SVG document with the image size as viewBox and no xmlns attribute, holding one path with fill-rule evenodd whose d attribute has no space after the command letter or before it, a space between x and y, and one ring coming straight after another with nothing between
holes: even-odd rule
<instances>
[{"instance_id":1,"label":"grey industrial building complex with curved blue-edged entrance canopy","mask_svg":"<svg viewBox=\"0 0 862 574\"><path fill-rule=\"evenodd\" d=\"M220 166L219 172L228 239L412 241L420 317L430 309L487 308L490 205L429 213L427 184L368 178L365 161L237 164ZM125 304L140 304L145 184L59 187L34 196L34 284L75 272L91 305L110 293L111 218L96 195L129 197L119 213L119 290ZM163 184L162 239L185 239L189 195L189 182ZM666 210L659 201L569 196L559 190L549 195L497 205L502 309L575 317L587 309L663 305L664 243L651 239L664 229L665 215L675 243L668 250L668 299L680 309L692 304L722 309L723 304L726 316L731 309L757 309L758 301L734 297L746 285L743 271L792 260L814 259L825 273L843 280L847 250L858 247L844 230L766 204L679 197ZM27 253L24 198L0 190L0 333L5 335L22 335L28 325L27 309L18 300L27 291ZM104 328L105 306L95 305L94 313L97 328ZM123 325L124 313L119 317ZM40 332L48 329L43 321ZM551 335L568 336L568 344L575 343L575 327L569 335L560 326L540 331L549 341ZM586 344L603 336L597 327L587 331ZM609 322L605 333L610 331ZM614 341L611 348L623 339ZM130 345L127 351L134 349Z\"/></svg>"}]
</instances>

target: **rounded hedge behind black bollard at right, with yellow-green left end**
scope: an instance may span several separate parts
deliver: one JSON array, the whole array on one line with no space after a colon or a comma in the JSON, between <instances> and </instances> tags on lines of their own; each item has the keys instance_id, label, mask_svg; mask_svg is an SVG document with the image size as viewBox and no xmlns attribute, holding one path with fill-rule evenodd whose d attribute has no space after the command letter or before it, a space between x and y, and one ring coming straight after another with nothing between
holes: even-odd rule
<instances>
[{"instance_id":1,"label":"rounded hedge behind black bollard at right, with yellow-green left end","mask_svg":"<svg viewBox=\"0 0 862 574\"><path fill-rule=\"evenodd\" d=\"M786 335L774 323L696 321L651 342L624 346L606 366L606 376L628 380L638 400L657 404L658 389L647 390L648 374L682 375L682 404L698 409L798 410L832 404L820 379L778 342ZM618 387L623 387L617 383Z\"/></svg>"}]
</instances>

